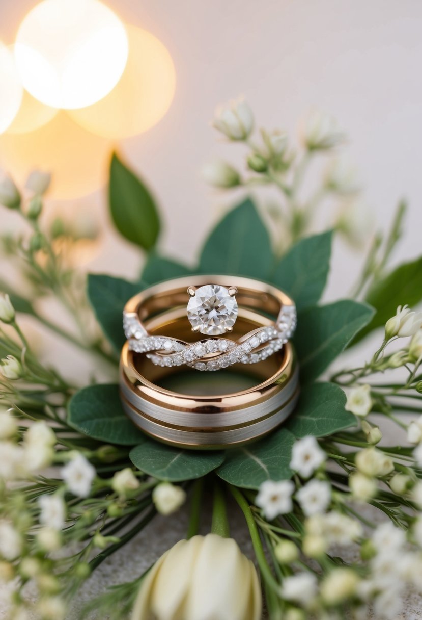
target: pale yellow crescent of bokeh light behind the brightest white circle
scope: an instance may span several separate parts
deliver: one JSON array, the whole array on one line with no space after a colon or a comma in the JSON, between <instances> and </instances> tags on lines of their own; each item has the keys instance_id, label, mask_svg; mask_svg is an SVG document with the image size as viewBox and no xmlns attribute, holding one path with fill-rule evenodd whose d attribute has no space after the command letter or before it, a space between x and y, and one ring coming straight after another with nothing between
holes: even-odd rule
<instances>
[{"instance_id":1,"label":"pale yellow crescent of bokeh light behind the brightest white circle","mask_svg":"<svg viewBox=\"0 0 422 620\"><path fill-rule=\"evenodd\" d=\"M150 32L127 26L129 58L123 76L104 99L71 116L88 131L127 138L165 115L174 97L176 73L170 53Z\"/></svg>"}]
</instances>

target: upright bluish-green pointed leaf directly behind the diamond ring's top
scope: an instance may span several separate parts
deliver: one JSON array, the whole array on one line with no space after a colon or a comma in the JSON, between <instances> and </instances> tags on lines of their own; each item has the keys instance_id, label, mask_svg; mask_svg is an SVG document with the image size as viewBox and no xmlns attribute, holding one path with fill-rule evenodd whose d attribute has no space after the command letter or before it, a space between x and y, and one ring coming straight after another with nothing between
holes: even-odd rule
<instances>
[{"instance_id":1,"label":"upright bluish-green pointed leaf directly behind the diamond ring's top","mask_svg":"<svg viewBox=\"0 0 422 620\"><path fill-rule=\"evenodd\" d=\"M202 249L199 270L268 280L272 263L268 231L248 198L213 229Z\"/></svg>"}]
</instances>

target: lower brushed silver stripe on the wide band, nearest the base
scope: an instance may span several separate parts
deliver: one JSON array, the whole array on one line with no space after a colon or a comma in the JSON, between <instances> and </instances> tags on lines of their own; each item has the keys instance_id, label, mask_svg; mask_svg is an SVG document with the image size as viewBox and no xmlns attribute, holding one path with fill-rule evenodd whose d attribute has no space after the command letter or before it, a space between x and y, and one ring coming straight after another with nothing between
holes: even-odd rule
<instances>
[{"instance_id":1,"label":"lower brushed silver stripe on the wide band, nearest the base","mask_svg":"<svg viewBox=\"0 0 422 620\"><path fill-rule=\"evenodd\" d=\"M170 443L177 443L178 445L186 446L225 446L233 443L243 443L255 439L265 433L270 432L273 428L280 425L295 409L296 402L298 401L299 391L285 407L282 407L274 415L264 418L255 424L250 424L241 428L233 428L230 430L214 431L214 432L197 432L179 430L176 428L170 428L161 426L156 422L152 422L147 418L143 418L141 415L136 414L129 405L123 401L123 409L126 415L136 423L137 427L141 428L149 435L155 438L162 439L163 441L169 441Z\"/></svg>"}]
</instances>

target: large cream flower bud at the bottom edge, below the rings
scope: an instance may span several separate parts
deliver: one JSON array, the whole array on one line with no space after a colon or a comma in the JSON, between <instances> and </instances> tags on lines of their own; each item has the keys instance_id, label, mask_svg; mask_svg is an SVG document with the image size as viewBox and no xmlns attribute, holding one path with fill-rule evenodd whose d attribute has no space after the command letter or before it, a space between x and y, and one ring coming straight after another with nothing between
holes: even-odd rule
<instances>
[{"instance_id":1,"label":"large cream flower bud at the bottom edge, below the rings","mask_svg":"<svg viewBox=\"0 0 422 620\"><path fill-rule=\"evenodd\" d=\"M261 620L256 569L233 539L177 542L142 580L132 620Z\"/></svg>"}]
</instances>

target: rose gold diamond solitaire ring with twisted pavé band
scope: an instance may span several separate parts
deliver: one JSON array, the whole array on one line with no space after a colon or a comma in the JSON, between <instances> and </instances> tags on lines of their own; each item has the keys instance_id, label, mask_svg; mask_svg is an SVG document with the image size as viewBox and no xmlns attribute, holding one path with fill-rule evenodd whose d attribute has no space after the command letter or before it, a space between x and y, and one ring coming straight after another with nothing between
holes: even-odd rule
<instances>
[{"instance_id":1,"label":"rose gold diamond solitaire ring with twisted pav\u00e9 band","mask_svg":"<svg viewBox=\"0 0 422 620\"><path fill-rule=\"evenodd\" d=\"M235 363L265 360L282 349L296 327L292 299L275 286L250 278L222 275L176 278L151 286L129 299L123 312L123 327L129 350L145 353L158 366L188 365L197 370L220 370ZM150 335L144 322L162 314L184 309L191 334L207 338L189 342L186 333L178 337ZM239 311L262 314L262 327L238 340L230 338ZM269 316L273 319L269 320Z\"/></svg>"}]
</instances>

